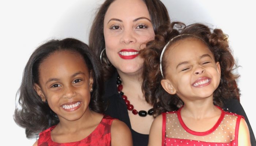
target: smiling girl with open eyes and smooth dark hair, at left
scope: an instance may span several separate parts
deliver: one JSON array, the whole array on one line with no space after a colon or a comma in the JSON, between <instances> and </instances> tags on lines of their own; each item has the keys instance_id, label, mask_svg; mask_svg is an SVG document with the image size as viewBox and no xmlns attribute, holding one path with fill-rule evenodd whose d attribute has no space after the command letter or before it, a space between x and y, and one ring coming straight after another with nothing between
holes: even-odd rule
<instances>
[{"instance_id":1,"label":"smiling girl with open eyes and smooth dark hair, at left","mask_svg":"<svg viewBox=\"0 0 256 146\"><path fill-rule=\"evenodd\" d=\"M27 62L15 122L27 138L40 132L34 146L131 146L129 128L101 114L101 81L99 62L85 43L49 41Z\"/></svg>"}]
</instances>

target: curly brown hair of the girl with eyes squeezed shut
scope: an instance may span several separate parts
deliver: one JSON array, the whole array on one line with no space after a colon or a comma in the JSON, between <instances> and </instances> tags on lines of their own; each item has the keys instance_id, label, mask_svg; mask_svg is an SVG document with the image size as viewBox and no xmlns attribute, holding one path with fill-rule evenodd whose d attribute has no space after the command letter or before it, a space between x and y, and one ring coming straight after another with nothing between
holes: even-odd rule
<instances>
[{"instance_id":1,"label":"curly brown hair of the girl with eyes squeezed shut","mask_svg":"<svg viewBox=\"0 0 256 146\"><path fill-rule=\"evenodd\" d=\"M181 22L159 27L158 34L153 41L147 43L146 49L140 51L140 55L145 59L143 66L143 85L142 89L148 103L154 104L154 116L161 112L177 110L183 105L182 100L177 95L170 95L161 86L163 79L160 72L160 55L163 47L172 38L166 49L175 42L185 38L196 38L205 43L215 57L215 61L221 66L221 81L218 88L214 91L214 104L223 106L223 101L229 98L239 100L240 93L236 84L239 75L233 74L232 70L236 67L233 53L229 48L227 35L221 29L212 30L208 26L195 23L186 26ZM190 35L181 35L190 34ZM179 37L176 37L181 35ZM174 38L175 37L175 38ZM165 50L166 51L166 50ZM166 55L162 58L163 76L166 75Z\"/></svg>"}]
</instances>

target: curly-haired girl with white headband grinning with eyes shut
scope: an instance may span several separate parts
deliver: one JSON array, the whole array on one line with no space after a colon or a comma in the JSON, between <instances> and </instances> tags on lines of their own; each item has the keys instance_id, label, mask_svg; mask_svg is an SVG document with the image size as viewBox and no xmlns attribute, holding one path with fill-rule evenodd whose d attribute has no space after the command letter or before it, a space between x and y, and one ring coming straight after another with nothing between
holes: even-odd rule
<instances>
[{"instance_id":1,"label":"curly-haired girl with white headband grinning with eyes shut","mask_svg":"<svg viewBox=\"0 0 256 146\"><path fill-rule=\"evenodd\" d=\"M221 108L223 99L239 97L226 35L203 24L182 25L173 23L142 51L144 72L154 76L148 84L162 85L154 91L156 112L178 108L155 118L148 145L251 145L244 118Z\"/></svg>"}]
</instances>

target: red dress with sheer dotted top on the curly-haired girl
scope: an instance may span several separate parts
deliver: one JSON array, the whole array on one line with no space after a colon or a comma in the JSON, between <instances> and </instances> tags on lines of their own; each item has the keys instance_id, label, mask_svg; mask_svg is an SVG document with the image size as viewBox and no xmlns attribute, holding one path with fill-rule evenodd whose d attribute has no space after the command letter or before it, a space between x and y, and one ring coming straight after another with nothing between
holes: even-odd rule
<instances>
[{"instance_id":1,"label":"red dress with sheer dotted top on the curly-haired girl","mask_svg":"<svg viewBox=\"0 0 256 146\"><path fill-rule=\"evenodd\" d=\"M240 115L221 110L217 123L208 131L190 130L180 111L163 113L162 146L236 146Z\"/></svg>"}]
</instances>

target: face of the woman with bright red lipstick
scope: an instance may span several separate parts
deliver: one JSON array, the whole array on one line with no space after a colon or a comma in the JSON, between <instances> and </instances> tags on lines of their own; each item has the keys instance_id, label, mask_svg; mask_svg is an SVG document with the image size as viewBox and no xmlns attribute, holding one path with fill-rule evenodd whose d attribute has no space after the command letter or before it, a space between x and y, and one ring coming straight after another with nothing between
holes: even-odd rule
<instances>
[{"instance_id":1,"label":"face of the woman with bright red lipstick","mask_svg":"<svg viewBox=\"0 0 256 146\"><path fill-rule=\"evenodd\" d=\"M155 37L146 4L142 0L115 0L104 19L106 54L118 72L142 71L139 50Z\"/></svg>"}]
</instances>

